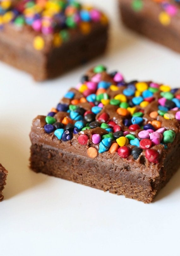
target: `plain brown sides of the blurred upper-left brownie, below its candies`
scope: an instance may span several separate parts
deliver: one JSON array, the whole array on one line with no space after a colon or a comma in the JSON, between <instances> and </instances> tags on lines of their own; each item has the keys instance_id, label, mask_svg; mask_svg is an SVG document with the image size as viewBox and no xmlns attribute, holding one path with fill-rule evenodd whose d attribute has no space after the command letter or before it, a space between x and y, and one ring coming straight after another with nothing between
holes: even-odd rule
<instances>
[{"instance_id":1,"label":"plain brown sides of the blurred upper-left brownie, below its candies","mask_svg":"<svg viewBox=\"0 0 180 256\"><path fill-rule=\"evenodd\" d=\"M79 34L73 40L45 54L30 51L22 44L16 45L9 34L2 32L0 60L30 73L36 81L43 81L57 77L105 52L107 38L108 26L97 26L90 34Z\"/></svg>"}]
</instances>

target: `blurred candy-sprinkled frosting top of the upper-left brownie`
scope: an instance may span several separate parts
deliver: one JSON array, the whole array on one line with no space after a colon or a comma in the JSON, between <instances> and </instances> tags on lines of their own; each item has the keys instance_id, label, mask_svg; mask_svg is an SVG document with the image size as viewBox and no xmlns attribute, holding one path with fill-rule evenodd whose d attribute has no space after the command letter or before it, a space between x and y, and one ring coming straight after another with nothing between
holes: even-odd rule
<instances>
[{"instance_id":1,"label":"blurred candy-sprinkled frosting top of the upper-left brownie","mask_svg":"<svg viewBox=\"0 0 180 256\"><path fill-rule=\"evenodd\" d=\"M87 35L96 26L107 24L102 12L74 0L0 1L0 34L30 41L38 51L48 52L76 34Z\"/></svg>"}]
</instances>

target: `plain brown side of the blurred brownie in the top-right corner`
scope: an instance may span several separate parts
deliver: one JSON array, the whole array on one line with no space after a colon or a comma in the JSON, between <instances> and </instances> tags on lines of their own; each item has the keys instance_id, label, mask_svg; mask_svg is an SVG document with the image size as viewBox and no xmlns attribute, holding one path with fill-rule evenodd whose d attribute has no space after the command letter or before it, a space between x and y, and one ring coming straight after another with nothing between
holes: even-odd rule
<instances>
[{"instance_id":1,"label":"plain brown side of the blurred brownie in the top-right corner","mask_svg":"<svg viewBox=\"0 0 180 256\"><path fill-rule=\"evenodd\" d=\"M160 22L150 20L135 12L129 2L120 3L120 12L123 23L130 29L143 34L151 40L180 52L180 35L170 27L163 26Z\"/></svg>"}]
</instances>

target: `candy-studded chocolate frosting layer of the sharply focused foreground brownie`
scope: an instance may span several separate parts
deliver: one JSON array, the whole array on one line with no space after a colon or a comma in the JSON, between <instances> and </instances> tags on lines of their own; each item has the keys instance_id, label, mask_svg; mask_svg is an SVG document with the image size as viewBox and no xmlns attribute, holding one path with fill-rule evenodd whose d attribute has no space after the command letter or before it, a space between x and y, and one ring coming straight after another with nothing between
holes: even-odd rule
<instances>
[{"instance_id":1,"label":"candy-studded chocolate frosting layer of the sharply focused foreground brownie","mask_svg":"<svg viewBox=\"0 0 180 256\"><path fill-rule=\"evenodd\" d=\"M179 131L180 89L126 82L121 73L107 73L103 65L82 76L32 127L33 134L40 133L40 143L92 158L146 162L151 174L154 166L158 170L163 165Z\"/></svg>"}]
</instances>

